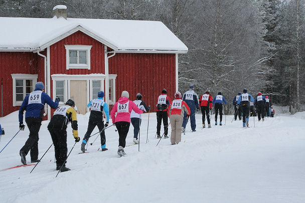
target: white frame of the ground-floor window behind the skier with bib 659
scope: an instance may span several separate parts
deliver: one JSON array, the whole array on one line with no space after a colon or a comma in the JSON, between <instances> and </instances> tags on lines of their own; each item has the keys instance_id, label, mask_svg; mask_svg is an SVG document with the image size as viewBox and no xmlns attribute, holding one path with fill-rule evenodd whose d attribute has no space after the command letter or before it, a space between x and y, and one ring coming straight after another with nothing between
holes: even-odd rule
<instances>
[{"instance_id":1,"label":"white frame of the ground-floor window behind the skier with bib 659","mask_svg":"<svg viewBox=\"0 0 305 203\"><path fill-rule=\"evenodd\" d=\"M38 74L11 74L13 79L13 106L21 106L22 101L16 101L16 80L33 80L33 90L37 83ZM26 94L26 86L24 88L24 98Z\"/></svg>"}]
</instances>

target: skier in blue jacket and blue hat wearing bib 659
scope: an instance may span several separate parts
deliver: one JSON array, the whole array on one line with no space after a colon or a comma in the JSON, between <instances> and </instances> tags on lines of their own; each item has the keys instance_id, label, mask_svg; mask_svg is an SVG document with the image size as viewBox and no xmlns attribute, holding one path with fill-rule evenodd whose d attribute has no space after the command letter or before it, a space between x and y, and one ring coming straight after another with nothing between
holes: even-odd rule
<instances>
[{"instance_id":1,"label":"skier in blue jacket and blue hat wearing bib 659","mask_svg":"<svg viewBox=\"0 0 305 203\"><path fill-rule=\"evenodd\" d=\"M60 101L59 97L56 97L55 102L53 102L51 97L43 92L44 89L45 86L42 82L36 83L34 92L31 92L25 97L19 109L19 129L25 129L25 125L23 124L23 112L26 111L26 123L30 130L29 138L19 152L21 162L25 165L27 164L26 155L30 150L31 163L39 162L38 132L44 114L44 105L47 103L51 108L56 109Z\"/></svg>"}]
</instances>

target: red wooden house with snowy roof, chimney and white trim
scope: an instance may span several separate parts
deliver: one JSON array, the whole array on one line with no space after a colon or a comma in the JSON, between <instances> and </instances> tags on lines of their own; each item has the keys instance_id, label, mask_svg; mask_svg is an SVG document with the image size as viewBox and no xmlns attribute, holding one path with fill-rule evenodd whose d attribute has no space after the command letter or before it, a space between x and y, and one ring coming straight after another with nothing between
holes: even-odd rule
<instances>
[{"instance_id":1,"label":"red wooden house with snowy roof, chimney and white trim","mask_svg":"<svg viewBox=\"0 0 305 203\"><path fill-rule=\"evenodd\" d=\"M123 90L130 100L140 92L153 111L163 88L170 97L178 90L178 54L188 48L162 22L69 19L66 11L0 18L1 116L19 110L37 81L60 104L73 98L82 114L100 90L109 105Z\"/></svg>"}]
</instances>

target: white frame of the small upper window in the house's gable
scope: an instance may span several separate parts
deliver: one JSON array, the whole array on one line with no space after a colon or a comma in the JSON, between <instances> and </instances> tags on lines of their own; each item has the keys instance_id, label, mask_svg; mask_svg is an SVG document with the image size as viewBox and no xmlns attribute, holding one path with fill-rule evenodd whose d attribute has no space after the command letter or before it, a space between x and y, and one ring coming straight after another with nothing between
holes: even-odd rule
<instances>
[{"instance_id":1,"label":"white frame of the small upper window in the house's gable","mask_svg":"<svg viewBox=\"0 0 305 203\"><path fill-rule=\"evenodd\" d=\"M66 69L88 69L90 70L90 51L91 45L65 45L66 48ZM69 51L87 51L87 64L70 64Z\"/></svg>"}]
</instances>

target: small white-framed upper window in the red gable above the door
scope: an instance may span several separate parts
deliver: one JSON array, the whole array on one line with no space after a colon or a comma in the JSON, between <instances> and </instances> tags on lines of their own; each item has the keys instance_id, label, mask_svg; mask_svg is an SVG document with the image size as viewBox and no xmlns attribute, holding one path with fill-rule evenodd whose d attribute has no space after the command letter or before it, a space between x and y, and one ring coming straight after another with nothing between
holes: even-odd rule
<instances>
[{"instance_id":1,"label":"small white-framed upper window in the red gable above the door","mask_svg":"<svg viewBox=\"0 0 305 203\"><path fill-rule=\"evenodd\" d=\"M65 45L66 69L88 69L90 70L90 50L92 46Z\"/></svg>"}]
</instances>

